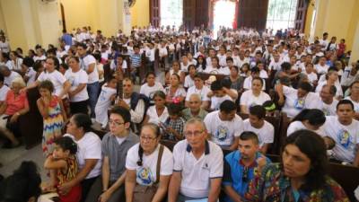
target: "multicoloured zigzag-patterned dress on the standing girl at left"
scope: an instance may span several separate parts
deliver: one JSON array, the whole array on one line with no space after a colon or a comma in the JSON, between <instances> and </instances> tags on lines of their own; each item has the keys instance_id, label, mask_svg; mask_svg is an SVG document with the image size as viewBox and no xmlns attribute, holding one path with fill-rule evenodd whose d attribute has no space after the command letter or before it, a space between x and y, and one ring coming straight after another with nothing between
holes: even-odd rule
<instances>
[{"instance_id":1,"label":"multicoloured zigzag-patterned dress on the standing girl at left","mask_svg":"<svg viewBox=\"0 0 359 202\"><path fill-rule=\"evenodd\" d=\"M62 135L63 126L60 103L57 96L54 96L48 105L48 118L44 119L42 152L45 156L53 152L55 139Z\"/></svg>"}]
</instances>

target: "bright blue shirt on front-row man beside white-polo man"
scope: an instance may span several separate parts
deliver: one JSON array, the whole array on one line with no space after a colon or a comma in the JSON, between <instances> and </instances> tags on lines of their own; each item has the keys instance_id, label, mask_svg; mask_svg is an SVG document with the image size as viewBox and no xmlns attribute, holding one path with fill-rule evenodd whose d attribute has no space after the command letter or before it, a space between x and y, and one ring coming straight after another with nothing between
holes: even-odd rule
<instances>
[{"instance_id":1,"label":"bright blue shirt on front-row man beside white-polo man","mask_svg":"<svg viewBox=\"0 0 359 202\"><path fill-rule=\"evenodd\" d=\"M256 154L256 160L261 156L266 158L267 163L270 162L270 160L265 155L260 153ZM253 180L257 174L257 162L254 162L247 168L247 180L242 181L245 168L241 163L240 151L237 150L227 154L224 160L223 185L231 185L232 189L234 189L241 197L243 197L248 190L250 181ZM226 202L232 202L232 199L228 196L225 196L223 199Z\"/></svg>"}]
</instances>

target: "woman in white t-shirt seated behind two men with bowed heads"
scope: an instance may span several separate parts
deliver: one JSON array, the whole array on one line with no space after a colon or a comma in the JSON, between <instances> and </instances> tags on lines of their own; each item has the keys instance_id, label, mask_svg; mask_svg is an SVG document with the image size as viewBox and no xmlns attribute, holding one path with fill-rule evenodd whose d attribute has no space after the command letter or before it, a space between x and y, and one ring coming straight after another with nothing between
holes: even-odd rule
<instances>
[{"instance_id":1,"label":"woman in white t-shirt seated behind two men with bowed heads","mask_svg":"<svg viewBox=\"0 0 359 202\"><path fill-rule=\"evenodd\" d=\"M251 90L241 94L241 113L248 114L251 106L262 105L265 101L270 101L267 92L262 91L263 80L259 77L252 79Z\"/></svg>"}]
</instances>

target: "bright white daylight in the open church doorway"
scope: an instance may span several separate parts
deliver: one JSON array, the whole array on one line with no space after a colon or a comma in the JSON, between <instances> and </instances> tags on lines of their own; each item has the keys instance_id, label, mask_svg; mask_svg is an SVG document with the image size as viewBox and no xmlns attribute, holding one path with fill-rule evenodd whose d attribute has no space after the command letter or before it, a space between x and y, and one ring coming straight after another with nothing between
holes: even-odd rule
<instances>
[{"instance_id":1,"label":"bright white daylight in the open church doorway","mask_svg":"<svg viewBox=\"0 0 359 202\"><path fill-rule=\"evenodd\" d=\"M214 10L214 34L217 38L219 27L233 28L233 21L235 15L235 2L232 1L217 1Z\"/></svg>"}]
</instances>

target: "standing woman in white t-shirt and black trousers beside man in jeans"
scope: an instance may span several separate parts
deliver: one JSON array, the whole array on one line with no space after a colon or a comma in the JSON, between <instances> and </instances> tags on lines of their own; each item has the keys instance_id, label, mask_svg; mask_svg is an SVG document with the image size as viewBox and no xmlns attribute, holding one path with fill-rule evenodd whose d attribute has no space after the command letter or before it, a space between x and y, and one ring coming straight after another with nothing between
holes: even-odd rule
<instances>
[{"instance_id":1,"label":"standing woman in white t-shirt and black trousers beside man in jeans","mask_svg":"<svg viewBox=\"0 0 359 202\"><path fill-rule=\"evenodd\" d=\"M87 114L89 94L86 90L86 85L88 83L88 75L80 68L80 60L78 57L70 57L68 65L70 69L66 71L65 77L71 85L68 91L71 113Z\"/></svg>"}]
</instances>

